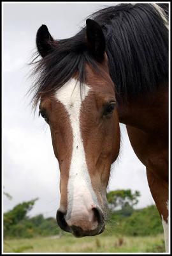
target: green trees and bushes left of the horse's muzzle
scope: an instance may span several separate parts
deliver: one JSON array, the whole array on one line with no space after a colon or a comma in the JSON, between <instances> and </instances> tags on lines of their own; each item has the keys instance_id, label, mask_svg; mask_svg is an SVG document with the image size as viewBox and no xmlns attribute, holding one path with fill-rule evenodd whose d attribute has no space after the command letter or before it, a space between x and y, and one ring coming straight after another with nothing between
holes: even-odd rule
<instances>
[{"instance_id":1,"label":"green trees and bushes left of the horse's muzzle","mask_svg":"<svg viewBox=\"0 0 172 256\"><path fill-rule=\"evenodd\" d=\"M38 198L23 202L4 213L4 238L31 238L36 236L61 236L57 220L43 214L34 217L27 216Z\"/></svg>"}]
</instances>

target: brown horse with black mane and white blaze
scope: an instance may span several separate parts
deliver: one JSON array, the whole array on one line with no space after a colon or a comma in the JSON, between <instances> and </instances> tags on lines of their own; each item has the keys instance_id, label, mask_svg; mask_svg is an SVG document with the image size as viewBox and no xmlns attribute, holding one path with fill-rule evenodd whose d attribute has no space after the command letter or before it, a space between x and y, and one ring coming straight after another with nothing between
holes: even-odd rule
<instances>
[{"instance_id":1,"label":"brown horse with black mane and white blaze","mask_svg":"<svg viewBox=\"0 0 172 256\"><path fill-rule=\"evenodd\" d=\"M103 8L61 40L42 25L36 46L32 104L59 162L59 227L76 237L103 232L121 122L146 166L168 252L168 4Z\"/></svg>"}]
</instances>

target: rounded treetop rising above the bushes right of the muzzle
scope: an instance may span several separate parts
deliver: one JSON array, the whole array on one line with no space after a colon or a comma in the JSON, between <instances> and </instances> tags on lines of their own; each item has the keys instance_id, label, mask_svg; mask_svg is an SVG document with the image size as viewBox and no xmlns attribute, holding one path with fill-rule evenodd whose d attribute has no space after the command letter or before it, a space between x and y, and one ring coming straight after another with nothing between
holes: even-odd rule
<instances>
[{"instance_id":1,"label":"rounded treetop rising above the bushes right of the muzzle","mask_svg":"<svg viewBox=\"0 0 172 256\"><path fill-rule=\"evenodd\" d=\"M120 189L107 193L108 204L112 211L123 209L129 211L133 205L138 204L139 191L131 192L131 189Z\"/></svg>"}]
</instances>

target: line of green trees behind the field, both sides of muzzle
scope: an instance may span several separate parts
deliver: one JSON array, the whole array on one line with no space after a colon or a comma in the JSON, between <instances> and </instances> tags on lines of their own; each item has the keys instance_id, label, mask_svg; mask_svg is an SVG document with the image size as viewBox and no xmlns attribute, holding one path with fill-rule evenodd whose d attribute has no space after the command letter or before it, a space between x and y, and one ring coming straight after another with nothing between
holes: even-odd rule
<instances>
[{"instance_id":1,"label":"line of green trees behind the field, both sides of muzzle","mask_svg":"<svg viewBox=\"0 0 172 256\"><path fill-rule=\"evenodd\" d=\"M11 198L8 193L4 195ZM155 205L134 209L140 197L139 191L118 189L107 193L109 214L106 230L125 236L148 236L163 232L161 219ZM29 238L35 236L64 235L55 218L45 218L43 214L29 217L28 213L38 198L16 205L4 213L4 238ZM116 223L115 227L113 223ZM103 233L106 235L106 232Z\"/></svg>"}]
</instances>

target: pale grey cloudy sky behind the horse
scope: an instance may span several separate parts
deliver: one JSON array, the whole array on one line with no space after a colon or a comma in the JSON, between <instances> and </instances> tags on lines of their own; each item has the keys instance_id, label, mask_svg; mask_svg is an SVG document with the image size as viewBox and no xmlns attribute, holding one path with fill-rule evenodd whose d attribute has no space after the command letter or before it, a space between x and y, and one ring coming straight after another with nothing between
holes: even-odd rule
<instances>
[{"instance_id":1,"label":"pale grey cloudy sky behind the horse","mask_svg":"<svg viewBox=\"0 0 172 256\"><path fill-rule=\"evenodd\" d=\"M114 3L115 4L115 3ZM4 211L38 197L31 215L54 216L59 207L59 165L54 156L48 125L31 111L25 96L36 32L46 24L54 38L68 38L85 24L85 18L107 3L4 3L3 4L3 183ZM113 3L111 3L113 5ZM125 125L122 149L111 170L108 190L141 192L138 207L154 204L147 184L145 166L129 143Z\"/></svg>"}]
</instances>

